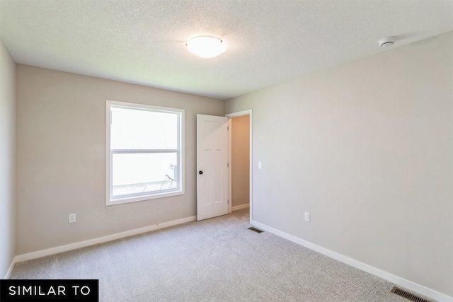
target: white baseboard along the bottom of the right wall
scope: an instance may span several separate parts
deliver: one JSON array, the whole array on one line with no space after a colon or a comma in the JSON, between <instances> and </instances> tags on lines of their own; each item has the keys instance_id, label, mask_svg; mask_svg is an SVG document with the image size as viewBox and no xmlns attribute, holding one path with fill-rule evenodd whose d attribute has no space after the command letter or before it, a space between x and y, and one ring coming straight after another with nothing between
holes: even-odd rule
<instances>
[{"instance_id":1,"label":"white baseboard along the bottom of the right wall","mask_svg":"<svg viewBox=\"0 0 453 302\"><path fill-rule=\"evenodd\" d=\"M397 284L399 286L402 286L405 289L408 289L410 291L414 291L415 293L421 294L423 296L427 296L429 298L432 298L436 301L439 302L453 302L453 297L447 296L445 294L442 294L438 291L434 291L432 289L428 289L428 287L425 287L420 284L416 284L412 281L406 280L404 278L395 276L394 274L390 274L389 272L385 272L382 269L378 269L376 267L372 267L371 265L367 265L363 262L354 260L350 257L346 257L344 255L338 254L338 252L333 252L332 250L328 250L326 248L322 248L319 245L316 245L314 243L310 243L309 241L297 238L295 236L289 235L285 232L278 231L275 228L271 228L270 226L266 226L263 223L259 223L257 221L252 221L252 225L256 226L257 228L260 228L264 231L268 231L270 233L273 233L277 236L280 236L282 238L285 238L289 241L292 241L294 243L297 243L299 245L304 246L305 248L309 248L311 250L314 250L316 252L319 252L323 255L326 255L327 257L331 257L335 260L338 260L340 262L343 262L347 265L350 265L352 267L355 267L357 269L362 269L362 271L368 272L370 274L374 274L374 276L380 277L382 279L385 279L387 281L390 281L391 283Z\"/></svg>"}]
</instances>

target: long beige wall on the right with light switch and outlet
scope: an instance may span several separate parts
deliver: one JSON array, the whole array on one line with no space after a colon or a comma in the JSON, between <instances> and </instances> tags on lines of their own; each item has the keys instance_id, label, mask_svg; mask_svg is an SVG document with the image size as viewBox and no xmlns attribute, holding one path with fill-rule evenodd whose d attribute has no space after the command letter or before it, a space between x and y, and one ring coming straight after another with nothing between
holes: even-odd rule
<instances>
[{"instance_id":1,"label":"long beige wall on the right with light switch and outlet","mask_svg":"<svg viewBox=\"0 0 453 302\"><path fill-rule=\"evenodd\" d=\"M452 32L226 101L248 109L255 221L453 296Z\"/></svg>"}]
</instances>

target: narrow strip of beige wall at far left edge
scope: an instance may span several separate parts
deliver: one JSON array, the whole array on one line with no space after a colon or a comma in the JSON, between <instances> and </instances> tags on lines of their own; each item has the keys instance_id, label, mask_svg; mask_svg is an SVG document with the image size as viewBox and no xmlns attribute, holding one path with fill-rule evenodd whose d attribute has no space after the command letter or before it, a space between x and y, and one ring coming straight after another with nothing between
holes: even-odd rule
<instances>
[{"instance_id":1,"label":"narrow strip of beige wall at far left edge","mask_svg":"<svg viewBox=\"0 0 453 302\"><path fill-rule=\"evenodd\" d=\"M0 40L0 279L16 255L16 63Z\"/></svg>"}]
</instances>

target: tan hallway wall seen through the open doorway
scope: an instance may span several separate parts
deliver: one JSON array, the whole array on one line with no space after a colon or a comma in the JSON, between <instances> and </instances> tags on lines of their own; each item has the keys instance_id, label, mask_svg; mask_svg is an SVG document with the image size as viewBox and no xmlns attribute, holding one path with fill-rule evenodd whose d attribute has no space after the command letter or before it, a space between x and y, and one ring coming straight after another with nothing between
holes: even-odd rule
<instances>
[{"instance_id":1,"label":"tan hallway wall seen through the open doorway","mask_svg":"<svg viewBox=\"0 0 453 302\"><path fill-rule=\"evenodd\" d=\"M231 207L250 199L250 117L231 118Z\"/></svg>"}]
</instances>

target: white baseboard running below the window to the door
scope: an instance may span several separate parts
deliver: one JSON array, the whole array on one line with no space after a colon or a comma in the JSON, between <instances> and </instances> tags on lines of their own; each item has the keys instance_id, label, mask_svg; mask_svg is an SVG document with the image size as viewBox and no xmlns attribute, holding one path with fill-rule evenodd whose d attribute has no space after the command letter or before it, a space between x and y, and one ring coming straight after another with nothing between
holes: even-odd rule
<instances>
[{"instance_id":1,"label":"white baseboard running below the window to the door","mask_svg":"<svg viewBox=\"0 0 453 302\"><path fill-rule=\"evenodd\" d=\"M149 231L154 231L159 228L167 228L168 226L176 226L177 224L186 223L186 222L195 221L195 220L197 220L197 216L190 216L190 217L183 218L183 219L168 221L168 222L164 222L164 223L157 223L152 226L145 226L144 228L136 228L134 230L125 231L122 233L116 233L116 234L112 234L112 235L108 235L108 236L104 236L104 237L100 237L100 238L94 238L94 239L90 239L90 240L80 241L78 243L71 243L68 245L57 246L56 248L49 248L47 250L38 250L37 252L29 252L28 254L18 255L16 257L14 257L12 267L14 266L14 263L16 263L16 262L22 262L25 260L32 260L32 259L36 259L36 258L40 258L40 257L55 255L55 254L58 254L59 252L67 252L69 250L75 250L77 248L85 248L90 245L95 245L98 243L105 243L108 241L117 240L120 238L129 237L129 236L134 236L134 235L137 235L140 233L146 233ZM12 267L11 267L11 271L12 271ZM11 272L9 272L9 274L11 274Z\"/></svg>"}]
</instances>

